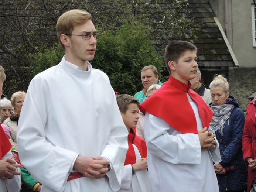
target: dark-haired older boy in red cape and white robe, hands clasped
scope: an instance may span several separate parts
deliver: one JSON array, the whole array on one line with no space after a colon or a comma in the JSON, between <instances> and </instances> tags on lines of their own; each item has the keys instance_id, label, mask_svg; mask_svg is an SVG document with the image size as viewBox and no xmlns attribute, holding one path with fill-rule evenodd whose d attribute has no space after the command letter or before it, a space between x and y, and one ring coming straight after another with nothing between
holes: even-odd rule
<instances>
[{"instance_id":1,"label":"dark-haired older boy in red cape and white robe, hands clasped","mask_svg":"<svg viewBox=\"0 0 256 192\"><path fill-rule=\"evenodd\" d=\"M164 58L169 80L139 106L145 114L152 191L219 191L213 162L221 157L209 129L212 111L190 89L197 72L196 54L190 42L168 44Z\"/></svg>"}]
</instances>

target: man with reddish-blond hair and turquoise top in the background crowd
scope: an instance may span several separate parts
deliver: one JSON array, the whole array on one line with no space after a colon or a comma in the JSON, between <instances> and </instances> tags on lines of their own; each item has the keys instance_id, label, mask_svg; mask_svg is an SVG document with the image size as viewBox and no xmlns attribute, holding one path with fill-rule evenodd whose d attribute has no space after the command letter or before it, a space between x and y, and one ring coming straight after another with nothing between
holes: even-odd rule
<instances>
[{"instance_id":1,"label":"man with reddish-blond hair and turquoise top in the background crowd","mask_svg":"<svg viewBox=\"0 0 256 192\"><path fill-rule=\"evenodd\" d=\"M163 85L163 83L158 80L157 68L153 65L143 67L143 69L141 69L140 71L140 75L141 82L144 88L142 91L135 93L134 97L138 99L140 103L142 103L146 99L147 89L149 89L150 85Z\"/></svg>"}]
</instances>

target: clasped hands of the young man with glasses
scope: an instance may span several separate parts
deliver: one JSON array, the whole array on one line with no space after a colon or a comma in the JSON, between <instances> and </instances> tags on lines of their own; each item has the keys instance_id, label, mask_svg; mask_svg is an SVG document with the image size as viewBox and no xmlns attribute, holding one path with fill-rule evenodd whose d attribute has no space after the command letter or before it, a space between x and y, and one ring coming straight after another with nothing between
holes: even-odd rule
<instances>
[{"instance_id":1,"label":"clasped hands of the young man with glasses","mask_svg":"<svg viewBox=\"0 0 256 192\"><path fill-rule=\"evenodd\" d=\"M104 157L82 157L78 156L73 168L86 177L100 179L108 171L109 161Z\"/></svg>"}]
</instances>

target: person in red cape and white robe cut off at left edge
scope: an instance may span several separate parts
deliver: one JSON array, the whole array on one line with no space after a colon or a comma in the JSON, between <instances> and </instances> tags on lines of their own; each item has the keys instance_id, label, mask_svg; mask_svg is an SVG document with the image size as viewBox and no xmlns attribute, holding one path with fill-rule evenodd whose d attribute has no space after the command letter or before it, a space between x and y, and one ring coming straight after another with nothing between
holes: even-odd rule
<instances>
[{"instance_id":1,"label":"person in red cape and white robe cut off at left edge","mask_svg":"<svg viewBox=\"0 0 256 192\"><path fill-rule=\"evenodd\" d=\"M6 79L4 68L0 66L0 97L3 93L3 82ZM11 143L0 124L0 191L18 192L21 188L20 165L13 159Z\"/></svg>"}]
</instances>

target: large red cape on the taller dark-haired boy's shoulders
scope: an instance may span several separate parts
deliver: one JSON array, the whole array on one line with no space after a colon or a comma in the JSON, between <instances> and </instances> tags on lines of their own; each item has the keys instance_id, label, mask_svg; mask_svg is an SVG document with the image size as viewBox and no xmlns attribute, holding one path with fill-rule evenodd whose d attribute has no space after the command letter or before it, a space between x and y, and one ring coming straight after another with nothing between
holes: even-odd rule
<instances>
[{"instance_id":1,"label":"large red cape on the taller dark-haired boy's shoulders","mask_svg":"<svg viewBox=\"0 0 256 192\"><path fill-rule=\"evenodd\" d=\"M173 78L161 86L152 96L140 104L140 111L146 111L154 116L161 117L171 127L181 133L196 133L197 121L186 92L197 104L203 127L209 128L212 120L212 110L207 106L201 96L190 89L191 83L185 84Z\"/></svg>"}]
</instances>

